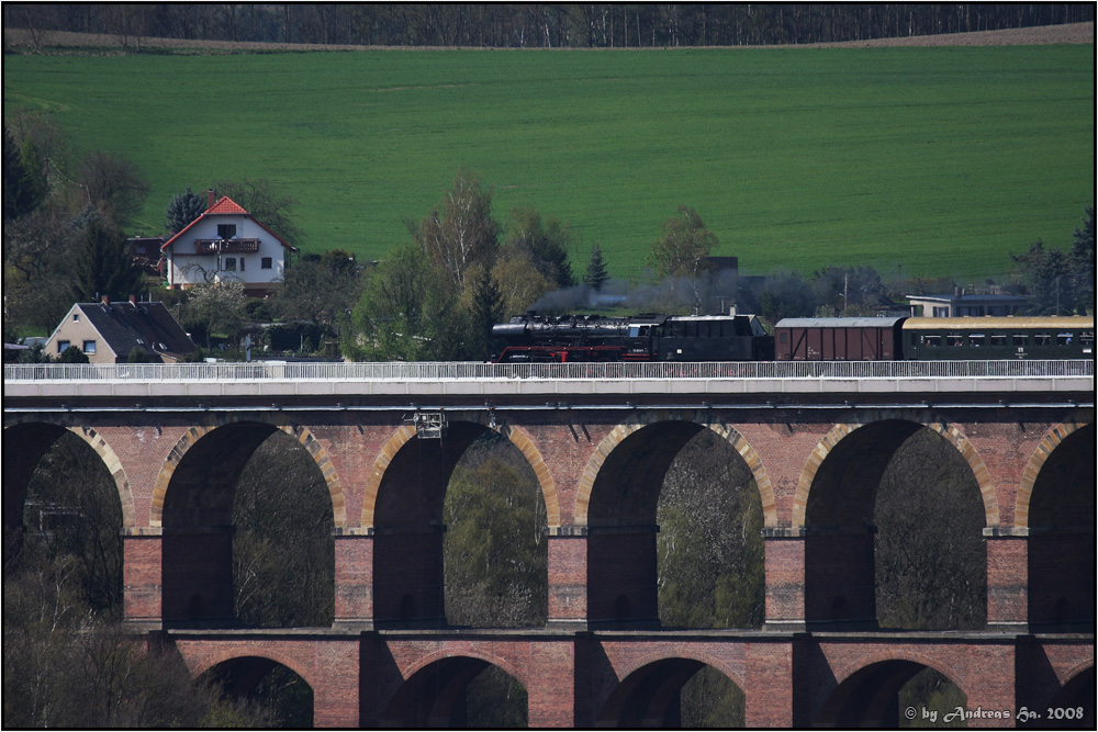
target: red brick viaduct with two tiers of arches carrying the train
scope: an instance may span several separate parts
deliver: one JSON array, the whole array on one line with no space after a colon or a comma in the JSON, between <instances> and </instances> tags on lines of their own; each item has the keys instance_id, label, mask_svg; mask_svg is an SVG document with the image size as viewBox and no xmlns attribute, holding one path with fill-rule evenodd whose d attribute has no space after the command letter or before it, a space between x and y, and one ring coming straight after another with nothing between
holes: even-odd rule
<instances>
[{"instance_id":1,"label":"red brick viaduct with two tiers of arches carrying the train","mask_svg":"<svg viewBox=\"0 0 1098 732\"><path fill-rule=\"evenodd\" d=\"M896 690L932 667L973 725L1022 707L1087 707L1094 725L1094 378L884 380L270 380L4 384L4 523L65 430L103 460L123 515L125 617L195 675L283 664L317 725L448 725L494 664L528 692L531 727L674 721L703 665L746 695L750 727L895 720ZM418 419L413 418L418 415ZM441 439L436 426L446 424ZM889 457L929 428L971 466L984 504L987 628L881 630L872 517ZM765 539L761 630L661 630L656 502L698 430L754 475ZM335 623L233 622L232 489L273 430L332 497ZM484 430L537 476L549 519L549 623L457 629L442 604L441 506Z\"/></svg>"}]
</instances>

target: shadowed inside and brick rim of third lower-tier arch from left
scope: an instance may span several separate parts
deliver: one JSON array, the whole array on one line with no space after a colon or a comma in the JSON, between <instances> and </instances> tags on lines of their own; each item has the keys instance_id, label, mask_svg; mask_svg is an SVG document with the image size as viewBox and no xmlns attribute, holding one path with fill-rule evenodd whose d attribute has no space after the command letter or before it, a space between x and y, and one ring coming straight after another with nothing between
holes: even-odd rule
<instances>
[{"instance_id":1,"label":"shadowed inside and brick rim of third lower-tier arch from left","mask_svg":"<svg viewBox=\"0 0 1098 732\"><path fill-rule=\"evenodd\" d=\"M743 679L712 661L686 656L660 658L625 674L603 702L595 725L625 729L682 727L683 688L706 667L715 669L742 692Z\"/></svg>"}]
</instances>

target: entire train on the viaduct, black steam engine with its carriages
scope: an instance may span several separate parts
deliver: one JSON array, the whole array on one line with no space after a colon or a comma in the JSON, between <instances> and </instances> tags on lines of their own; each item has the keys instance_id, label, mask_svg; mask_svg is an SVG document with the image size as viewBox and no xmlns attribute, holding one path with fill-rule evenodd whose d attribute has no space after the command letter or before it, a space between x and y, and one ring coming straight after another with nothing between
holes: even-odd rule
<instances>
[{"instance_id":1,"label":"entire train on the viaduct, black steam engine with its carriages","mask_svg":"<svg viewBox=\"0 0 1098 732\"><path fill-rule=\"evenodd\" d=\"M1094 317L628 317L527 313L495 325L495 363L597 361L955 361L1094 357Z\"/></svg>"}]
</instances>

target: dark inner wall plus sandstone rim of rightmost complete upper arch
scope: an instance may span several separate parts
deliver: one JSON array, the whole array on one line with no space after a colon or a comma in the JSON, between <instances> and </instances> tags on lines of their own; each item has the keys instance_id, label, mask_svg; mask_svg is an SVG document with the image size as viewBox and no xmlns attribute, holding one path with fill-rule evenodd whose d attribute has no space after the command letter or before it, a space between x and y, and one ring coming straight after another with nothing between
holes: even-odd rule
<instances>
[{"instance_id":1,"label":"dark inner wall plus sandstone rim of rightmost complete upper arch","mask_svg":"<svg viewBox=\"0 0 1098 732\"><path fill-rule=\"evenodd\" d=\"M941 438L951 446L943 454L955 450L967 466L979 491L979 528L997 525L995 486L983 459L956 427L927 417L897 414L836 425L808 458L793 507L793 528L805 537L806 623L849 630L877 626L877 496L893 458L920 430Z\"/></svg>"}]
</instances>

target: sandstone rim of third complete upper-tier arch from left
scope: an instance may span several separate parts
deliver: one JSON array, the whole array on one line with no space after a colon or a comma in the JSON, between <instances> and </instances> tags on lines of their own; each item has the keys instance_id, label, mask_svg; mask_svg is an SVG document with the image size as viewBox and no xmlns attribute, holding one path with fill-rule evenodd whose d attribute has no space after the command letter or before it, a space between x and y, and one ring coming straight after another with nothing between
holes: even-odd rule
<instances>
[{"instance_id":1,"label":"sandstone rim of third complete upper-tier arch from left","mask_svg":"<svg viewBox=\"0 0 1098 732\"><path fill-rule=\"evenodd\" d=\"M731 425L714 420L707 413L662 409L643 413L639 421L618 425L595 448L583 469L576 486L574 513L576 526L585 527L589 525L591 492L594 488L595 480L598 477L598 471L602 470L603 464L614 449L634 432L661 421L690 421L702 425L728 442L743 458L743 461L751 470L751 474L754 476L755 486L759 488L759 496L762 499L763 525L768 528L777 526L777 506L774 500L774 488L770 481L770 474L766 472L766 468L763 465L759 453L751 447L747 439L736 431Z\"/></svg>"}]
</instances>

